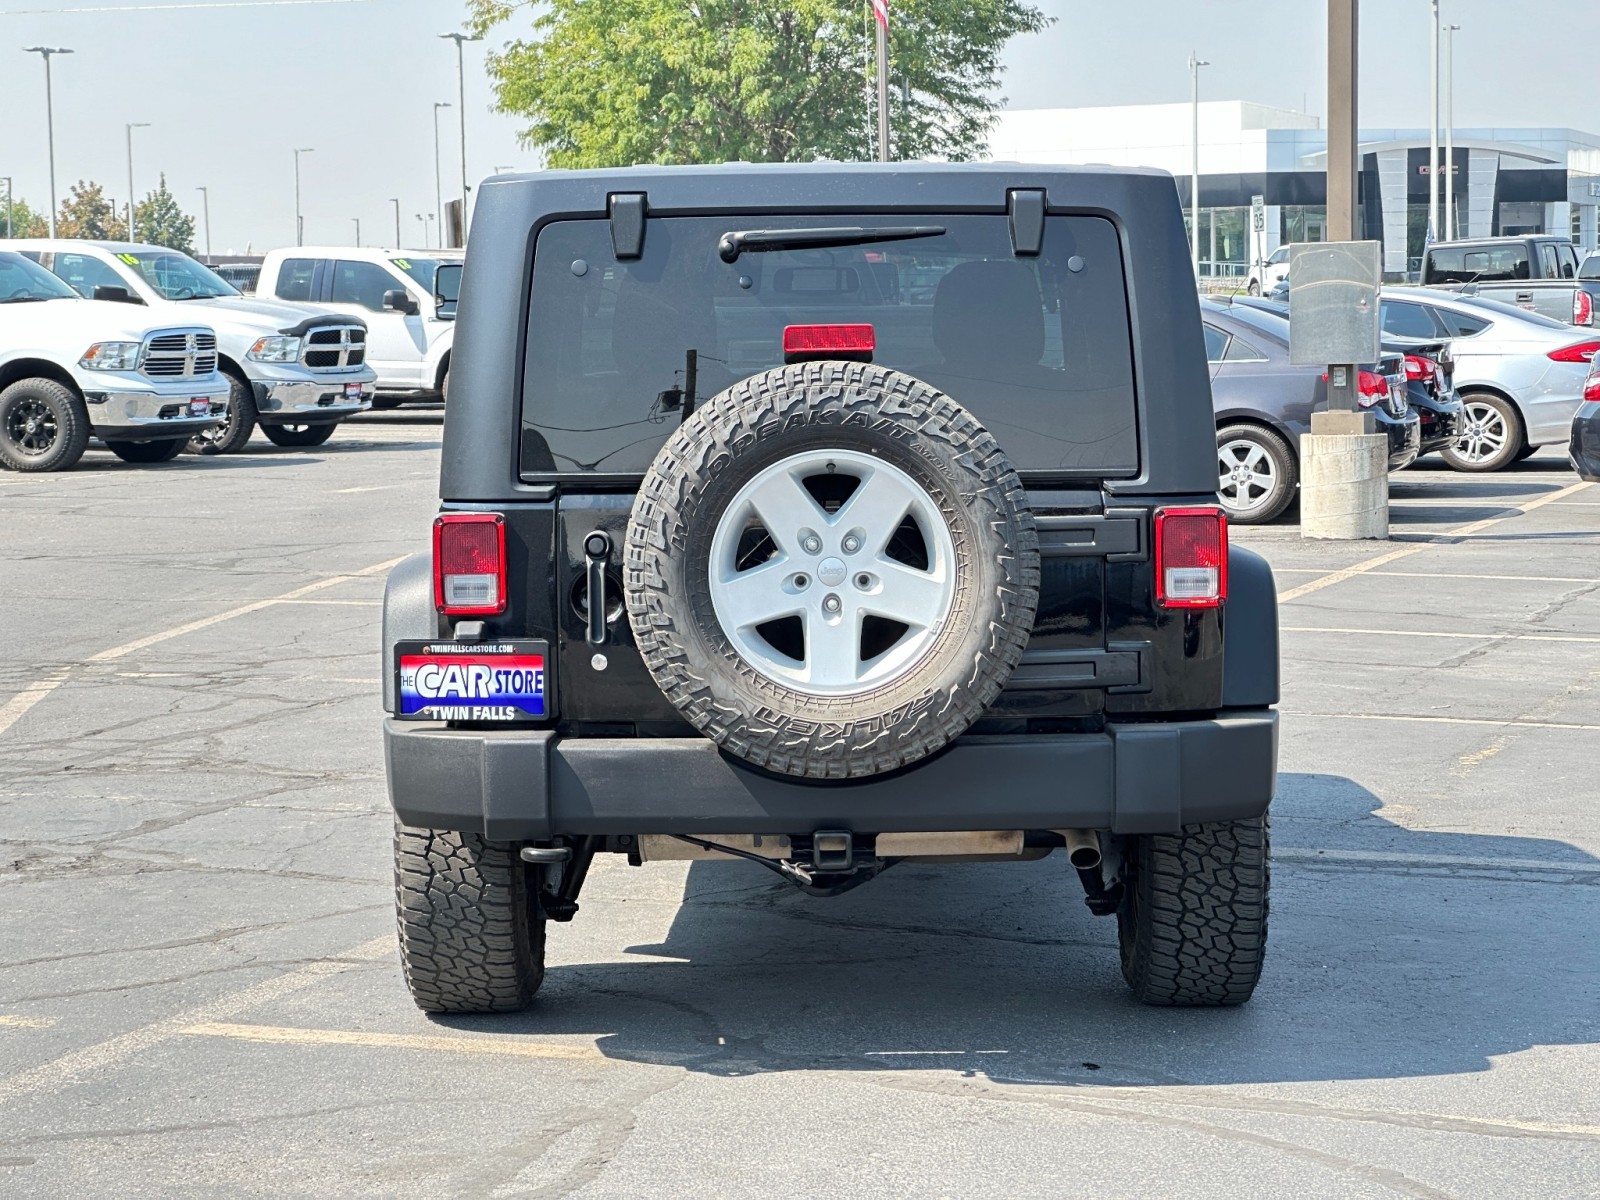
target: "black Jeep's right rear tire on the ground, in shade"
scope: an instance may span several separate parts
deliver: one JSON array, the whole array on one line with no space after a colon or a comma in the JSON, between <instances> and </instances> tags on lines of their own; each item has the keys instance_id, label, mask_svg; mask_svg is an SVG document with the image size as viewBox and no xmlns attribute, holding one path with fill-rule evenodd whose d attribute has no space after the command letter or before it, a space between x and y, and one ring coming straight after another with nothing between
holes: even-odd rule
<instances>
[{"instance_id":1,"label":"black Jeep's right rear tire on the ground, in shade","mask_svg":"<svg viewBox=\"0 0 1600 1200\"><path fill-rule=\"evenodd\" d=\"M1242 1005L1267 949L1266 816L1128 838L1122 974L1147 1005Z\"/></svg>"}]
</instances>

